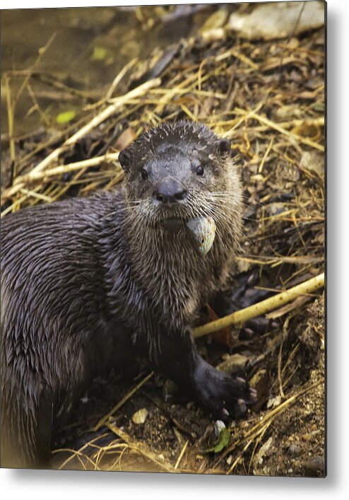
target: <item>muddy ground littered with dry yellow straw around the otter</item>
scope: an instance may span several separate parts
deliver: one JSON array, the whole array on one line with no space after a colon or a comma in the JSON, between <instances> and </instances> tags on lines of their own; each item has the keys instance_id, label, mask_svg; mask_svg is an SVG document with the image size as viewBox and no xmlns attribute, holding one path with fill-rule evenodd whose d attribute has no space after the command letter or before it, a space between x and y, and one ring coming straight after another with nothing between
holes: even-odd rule
<instances>
[{"instance_id":1,"label":"muddy ground littered with dry yellow straw around the otter","mask_svg":"<svg viewBox=\"0 0 349 500\"><path fill-rule=\"evenodd\" d=\"M122 149L125 141L163 120L206 122L232 139L245 202L244 237L224 301L211 303L215 314L225 315L323 272L324 28L276 41L247 42L232 33L218 40L197 35L181 40L170 56L167 53L169 64L151 74L157 57L155 50L153 57L130 69L116 95L156 76L162 79L162 89L184 82L181 93L160 107L163 94L156 93L127 103L61 153L59 163ZM68 83L64 81L65 93L73 86ZM12 150L11 134L1 130L4 211L87 196L122 182L117 163L102 164L28 181L27 191L11 193L16 175L30 173L107 105L91 110L93 95L79 98L81 108L73 122L65 127L44 122L34 132L20 132ZM204 313L202 320L207 320ZM246 418L231 421L219 434L209 414L154 374L112 412L107 425L93 431L150 373L144 361L131 360L118 373L94 380L69 424L57 429L53 467L324 477L322 291L198 344L215 366L233 355L230 371L251 380L258 390L259 400ZM135 413L144 409L143 423L134 423Z\"/></svg>"}]
</instances>

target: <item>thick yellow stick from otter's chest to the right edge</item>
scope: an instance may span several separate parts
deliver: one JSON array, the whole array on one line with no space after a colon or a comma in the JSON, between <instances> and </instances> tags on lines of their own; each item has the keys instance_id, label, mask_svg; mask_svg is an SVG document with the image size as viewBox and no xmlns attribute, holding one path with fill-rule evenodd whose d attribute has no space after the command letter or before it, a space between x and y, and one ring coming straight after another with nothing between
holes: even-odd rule
<instances>
[{"instance_id":1,"label":"thick yellow stick from otter's chest to the right edge","mask_svg":"<svg viewBox=\"0 0 349 500\"><path fill-rule=\"evenodd\" d=\"M295 298L301 295L312 293L313 291L322 288L324 286L324 282L324 273L318 274L318 276L308 279L297 286L293 286L289 290L278 293L276 296L266 298L266 300L256 303L253 306L237 310L235 313L229 314L219 320L206 323L206 325L191 328L190 331L194 337L203 337L203 335L218 332L218 330L226 328L230 325L242 324L247 320L251 320L252 318L256 318L257 316L279 308L280 306L295 300Z\"/></svg>"}]
</instances>

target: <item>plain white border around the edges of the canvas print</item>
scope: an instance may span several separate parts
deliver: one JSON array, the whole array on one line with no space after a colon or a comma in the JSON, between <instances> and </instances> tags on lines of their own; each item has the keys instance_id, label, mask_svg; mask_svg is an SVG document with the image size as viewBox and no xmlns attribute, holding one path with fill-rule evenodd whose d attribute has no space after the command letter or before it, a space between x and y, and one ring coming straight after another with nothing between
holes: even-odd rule
<instances>
[{"instance_id":1,"label":"plain white border around the edges of the canvas print","mask_svg":"<svg viewBox=\"0 0 349 500\"><path fill-rule=\"evenodd\" d=\"M183 4L184 1L44 1L33 7ZM197 3L197 2L192 2ZM212 2L213 3L213 2ZM218 2L215 2L218 3ZM79 499L341 499L349 486L348 470L348 193L349 79L347 0L328 2L328 477L290 479L149 475L139 473L0 470L2 498ZM28 8L27 1L1 0L0 8ZM347 15L345 15L347 14Z\"/></svg>"}]
</instances>

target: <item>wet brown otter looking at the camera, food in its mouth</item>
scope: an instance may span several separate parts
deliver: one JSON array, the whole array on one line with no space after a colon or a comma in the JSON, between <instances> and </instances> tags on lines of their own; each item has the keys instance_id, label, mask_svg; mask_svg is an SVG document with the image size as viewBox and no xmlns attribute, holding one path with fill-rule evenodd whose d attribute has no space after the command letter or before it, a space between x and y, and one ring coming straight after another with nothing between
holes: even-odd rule
<instances>
[{"instance_id":1,"label":"wet brown otter looking at the camera, food in its mouth","mask_svg":"<svg viewBox=\"0 0 349 500\"><path fill-rule=\"evenodd\" d=\"M203 124L144 132L119 153L113 192L10 214L1 223L1 465L47 466L52 429L120 351L146 356L215 418L256 391L200 356L187 325L223 285L241 228L230 141ZM200 256L185 223L212 217Z\"/></svg>"}]
</instances>

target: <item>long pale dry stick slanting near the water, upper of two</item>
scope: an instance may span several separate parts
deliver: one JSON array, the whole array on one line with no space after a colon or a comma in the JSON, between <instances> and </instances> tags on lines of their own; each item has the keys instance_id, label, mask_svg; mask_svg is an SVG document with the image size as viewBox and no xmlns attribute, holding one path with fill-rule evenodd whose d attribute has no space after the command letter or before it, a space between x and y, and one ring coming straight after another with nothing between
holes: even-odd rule
<instances>
[{"instance_id":1,"label":"long pale dry stick slanting near the water, upper of two","mask_svg":"<svg viewBox=\"0 0 349 500\"><path fill-rule=\"evenodd\" d=\"M78 132L70 136L69 139L66 139L66 141L61 146L59 146L59 148L54 149L54 151L52 151L52 153L50 153L49 156L45 158L45 160L41 161L38 165L36 165L36 167L32 169L31 174L35 175L36 173L45 170L45 168L47 168L51 163L56 161L59 155L63 153L69 146L75 144L83 136L88 134L88 132L97 127L100 123L107 120L107 118L111 117L114 114L114 112L116 112L119 109L119 107L124 105L124 103L127 100L135 97L140 97L141 95L145 94L150 88L160 86L160 83L161 83L160 79L147 81L146 83L143 83L139 87L134 88L129 93L126 93L125 95L121 95L119 98L114 99L112 105L106 107L105 110L103 110L92 120L90 120L88 124L79 129ZM16 184L13 185L13 188L11 190L8 190L4 194L6 194L6 196L13 196L13 194L16 194L16 192L18 192L23 187L24 187L23 182L17 181Z\"/></svg>"}]
</instances>

